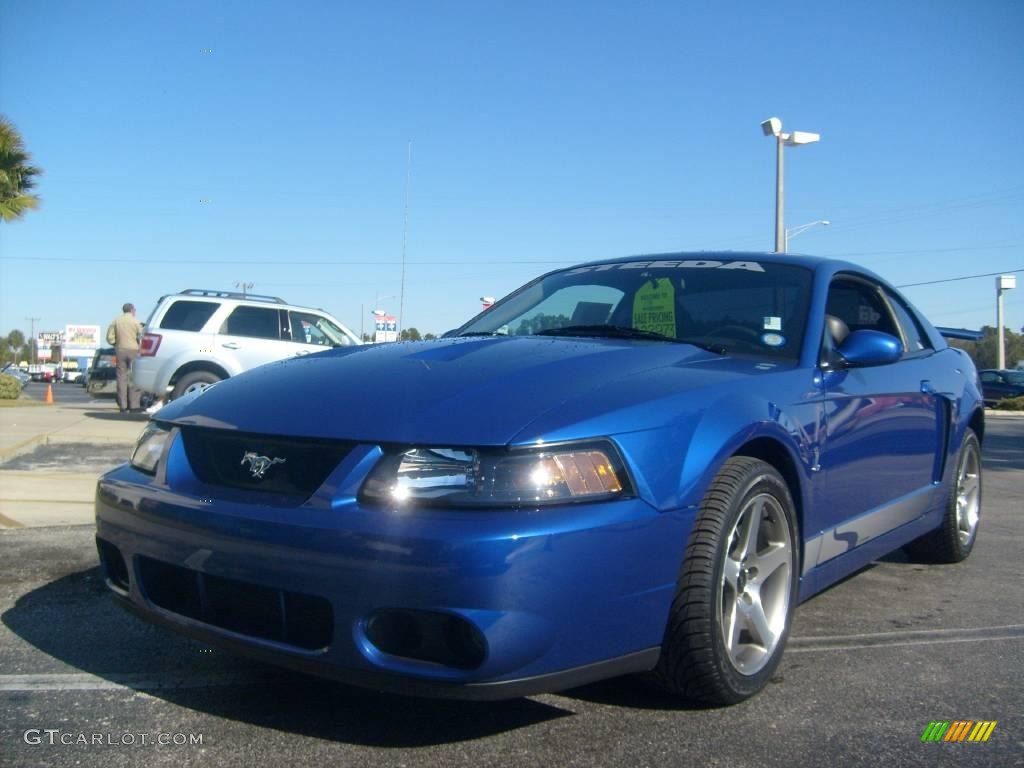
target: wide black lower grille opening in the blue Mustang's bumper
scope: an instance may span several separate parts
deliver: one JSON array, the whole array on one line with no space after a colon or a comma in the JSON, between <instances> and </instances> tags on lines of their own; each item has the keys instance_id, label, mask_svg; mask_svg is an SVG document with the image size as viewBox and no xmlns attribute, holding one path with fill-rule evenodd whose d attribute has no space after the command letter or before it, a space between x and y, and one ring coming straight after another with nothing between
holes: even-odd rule
<instances>
[{"instance_id":1,"label":"wide black lower grille opening in the blue Mustang's bumper","mask_svg":"<svg viewBox=\"0 0 1024 768\"><path fill-rule=\"evenodd\" d=\"M334 611L323 597L222 579L148 557L139 557L138 566L142 593L172 613L306 650L331 644Z\"/></svg>"}]
</instances>

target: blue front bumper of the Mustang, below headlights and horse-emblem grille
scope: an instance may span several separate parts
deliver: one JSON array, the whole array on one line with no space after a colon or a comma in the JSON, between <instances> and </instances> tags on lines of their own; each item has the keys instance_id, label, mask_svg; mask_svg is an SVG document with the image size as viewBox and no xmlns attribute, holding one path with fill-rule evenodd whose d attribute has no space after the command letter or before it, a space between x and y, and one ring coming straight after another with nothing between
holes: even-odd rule
<instances>
[{"instance_id":1,"label":"blue front bumper of the Mustang, below headlights and horse-emblem grille","mask_svg":"<svg viewBox=\"0 0 1024 768\"><path fill-rule=\"evenodd\" d=\"M294 507L225 498L180 472L164 483L110 472L96 493L109 586L205 642L401 693L502 698L653 667L692 509L630 499L397 514L355 500L375 458L362 449ZM382 612L441 616L421 634L464 628L479 656L382 649Z\"/></svg>"}]
</instances>

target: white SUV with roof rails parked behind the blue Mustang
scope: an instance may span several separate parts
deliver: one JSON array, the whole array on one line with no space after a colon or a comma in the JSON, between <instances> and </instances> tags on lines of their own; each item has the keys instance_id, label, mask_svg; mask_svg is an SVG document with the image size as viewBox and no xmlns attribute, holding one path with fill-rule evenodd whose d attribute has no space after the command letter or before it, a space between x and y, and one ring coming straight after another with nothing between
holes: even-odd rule
<instances>
[{"instance_id":1,"label":"white SUV with roof rails parked behind the blue Mustang","mask_svg":"<svg viewBox=\"0 0 1024 768\"><path fill-rule=\"evenodd\" d=\"M358 337L321 309L274 296L189 289L157 302L132 381L173 399L264 362L355 344Z\"/></svg>"}]
</instances>

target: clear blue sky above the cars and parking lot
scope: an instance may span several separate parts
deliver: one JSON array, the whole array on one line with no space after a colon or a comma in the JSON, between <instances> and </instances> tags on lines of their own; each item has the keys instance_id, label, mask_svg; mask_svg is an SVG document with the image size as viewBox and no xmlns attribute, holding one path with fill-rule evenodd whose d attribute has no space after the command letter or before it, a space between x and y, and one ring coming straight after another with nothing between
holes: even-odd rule
<instances>
[{"instance_id":1,"label":"clear blue sky above the cars and parking lot","mask_svg":"<svg viewBox=\"0 0 1024 768\"><path fill-rule=\"evenodd\" d=\"M786 153L786 224L833 223L791 250L897 285L1022 269L1022 40L1016 0L6 0L0 112L45 175L0 224L0 333L239 281L369 327L409 140L406 327L561 264L770 250L771 116L822 135ZM994 278L905 293L994 325Z\"/></svg>"}]
</instances>

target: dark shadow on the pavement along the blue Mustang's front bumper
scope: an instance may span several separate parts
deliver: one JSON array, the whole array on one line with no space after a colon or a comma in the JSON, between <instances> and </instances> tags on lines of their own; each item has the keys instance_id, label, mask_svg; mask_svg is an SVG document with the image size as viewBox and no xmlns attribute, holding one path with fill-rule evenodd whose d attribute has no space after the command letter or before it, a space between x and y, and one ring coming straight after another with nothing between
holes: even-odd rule
<instances>
[{"instance_id":1,"label":"dark shadow on the pavement along the blue Mustang's front bumper","mask_svg":"<svg viewBox=\"0 0 1024 768\"><path fill-rule=\"evenodd\" d=\"M59 574L22 595L0 622L40 652L81 672L129 688L132 680L146 681L137 689L178 707L333 741L429 746L573 714L529 698L426 700L381 693L207 648L117 606L98 566ZM210 684L203 683L206 678ZM180 686L181 680L193 683ZM154 681L167 685L155 687Z\"/></svg>"}]
</instances>

